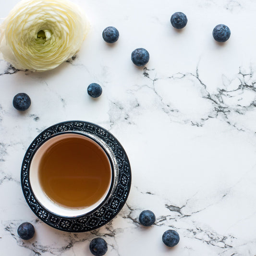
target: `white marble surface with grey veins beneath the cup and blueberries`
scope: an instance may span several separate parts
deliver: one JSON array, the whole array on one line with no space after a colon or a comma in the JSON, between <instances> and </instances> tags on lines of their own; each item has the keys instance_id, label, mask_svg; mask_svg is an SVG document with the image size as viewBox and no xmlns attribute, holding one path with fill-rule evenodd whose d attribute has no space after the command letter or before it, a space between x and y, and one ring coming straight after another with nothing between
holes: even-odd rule
<instances>
[{"instance_id":1,"label":"white marble surface with grey veins beneath the cup and blueberries","mask_svg":"<svg viewBox=\"0 0 256 256\"><path fill-rule=\"evenodd\" d=\"M2 256L91 255L103 237L108 256L256 255L256 29L255 0L73 0L92 25L76 58L45 73L18 71L0 61L0 250ZM18 0L5 1L5 17ZM173 12L186 13L182 31ZM218 44L217 24L231 37ZM106 44L106 26L120 31ZM131 62L139 47L150 53L145 68ZM94 100L88 84L102 85ZM27 93L20 113L12 98ZM97 123L125 148L133 181L125 207L93 232L55 230L27 206L20 168L40 131L66 120ZM139 213L156 223L144 228ZM17 227L33 223L23 241ZM167 248L162 233L175 229L180 243Z\"/></svg>"}]
</instances>

